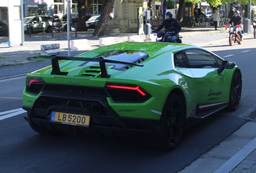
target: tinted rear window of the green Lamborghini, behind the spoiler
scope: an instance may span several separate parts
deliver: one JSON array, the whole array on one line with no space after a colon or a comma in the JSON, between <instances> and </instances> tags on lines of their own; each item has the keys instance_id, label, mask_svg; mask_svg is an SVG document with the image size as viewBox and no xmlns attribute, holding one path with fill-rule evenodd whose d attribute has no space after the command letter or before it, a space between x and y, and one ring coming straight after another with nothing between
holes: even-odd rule
<instances>
[{"instance_id":1,"label":"tinted rear window of the green Lamborghini, behind the spoiler","mask_svg":"<svg viewBox=\"0 0 256 173\"><path fill-rule=\"evenodd\" d=\"M132 63L140 63L142 61L145 61L149 54L142 51L137 50L114 50L110 52L105 52L103 54L100 54L99 56L103 57L104 59L108 60L116 60L116 61L123 61L123 62L132 62ZM99 56L96 56L94 58L97 58ZM99 64L98 62L85 62L81 64L80 66L91 66ZM113 66L112 68L115 70L126 70L130 66L124 65L124 64L114 64L114 63L106 63L106 65Z\"/></svg>"}]
</instances>

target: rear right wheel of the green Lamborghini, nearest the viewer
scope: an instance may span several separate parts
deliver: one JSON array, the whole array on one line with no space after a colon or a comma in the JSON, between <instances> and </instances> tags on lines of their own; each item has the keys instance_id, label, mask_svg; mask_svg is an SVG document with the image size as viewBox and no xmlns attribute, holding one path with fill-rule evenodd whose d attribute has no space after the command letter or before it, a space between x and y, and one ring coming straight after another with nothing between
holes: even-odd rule
<instances>
[{"instance_id":1,"label":"rear right wheel of the green Lamborghini, nearest the viewer","mask_svg":"<svg viewBox=\"0 0 256 173\"><path fill-rule=\"evenodd\" d=\"M185 127L186 108L182 99L175 93L167 98L159 126L153 129L158 137L145 141L145 145L154 149L173 150L182 138ZM152 130L152 129L151 129Z\"/></svg>"}]
</instances>

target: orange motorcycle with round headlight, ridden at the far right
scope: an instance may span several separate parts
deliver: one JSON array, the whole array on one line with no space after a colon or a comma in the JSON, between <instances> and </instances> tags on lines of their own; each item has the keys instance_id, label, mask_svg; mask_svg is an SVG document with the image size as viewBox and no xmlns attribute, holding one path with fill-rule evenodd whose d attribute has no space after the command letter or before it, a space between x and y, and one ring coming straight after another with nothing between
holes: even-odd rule
<instances>
[{"instance_id":1,"label":"orange motorcycle with round headlight, ridden at the far right","mask_svg":"<svg viewBox=\"0 0 256 173\"><path fill-rule=\"evenodd\" d=\"M242 39L240 38L238 31L241 28L241 24L236 26L225 25L225 28L229 28L229 45L233 46L234 43L242 44ZM241 30L242 32L242 30Z\"/></svg>"}]
</instances>

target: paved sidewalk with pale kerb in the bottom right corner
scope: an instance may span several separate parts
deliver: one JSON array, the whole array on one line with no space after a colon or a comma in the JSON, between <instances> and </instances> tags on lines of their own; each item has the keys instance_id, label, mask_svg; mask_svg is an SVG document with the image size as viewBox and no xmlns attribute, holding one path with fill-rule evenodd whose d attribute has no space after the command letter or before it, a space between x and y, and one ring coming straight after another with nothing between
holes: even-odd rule
<instances>
[{"instance_id":1,"label":"paved sidewalk with pale kerb in the bottom right corner","mask_svg":"<svg viewBox=\"0 0 256 173\"><path fill-rule=\"evenodd\" d=\"M178 173L256 173L256 121L244 124Z\"/></svg>"}]
</instances>

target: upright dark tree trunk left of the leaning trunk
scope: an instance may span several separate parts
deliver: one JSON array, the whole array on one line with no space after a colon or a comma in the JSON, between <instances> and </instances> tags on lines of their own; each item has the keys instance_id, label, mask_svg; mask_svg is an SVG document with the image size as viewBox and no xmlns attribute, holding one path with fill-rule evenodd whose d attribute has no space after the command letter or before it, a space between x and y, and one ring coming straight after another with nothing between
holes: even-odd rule
<instances>
[{"instance_id":1,"label":"upright dark tree trunk left of the leaning trunk","mask_svg":"<svg viewBox=\"0 0 256 173\"><path fill-rule=\"evenodd\" d=\"M87 31L86 24L85 24L85 21L86 21L85 0L77 0L77 10L78 10L77 30Z\"/></svg>"}]
</instances>

